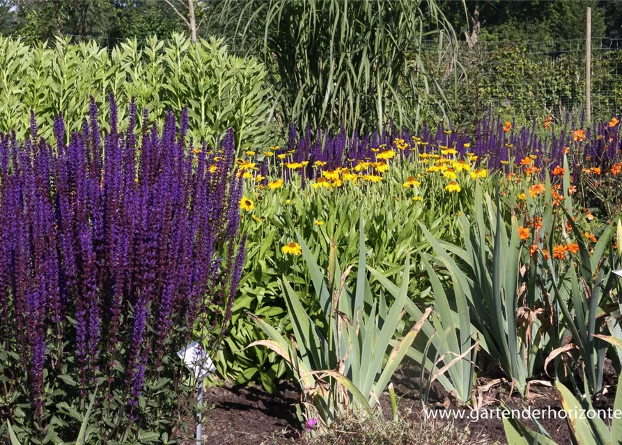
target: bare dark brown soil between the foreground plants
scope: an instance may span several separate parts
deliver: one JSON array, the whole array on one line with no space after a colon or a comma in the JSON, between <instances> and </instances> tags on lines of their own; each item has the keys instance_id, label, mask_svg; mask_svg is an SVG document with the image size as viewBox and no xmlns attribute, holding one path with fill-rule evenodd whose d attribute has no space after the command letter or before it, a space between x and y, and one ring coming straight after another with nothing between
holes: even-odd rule
<instances>
[{"instance_id":1,"label":"bare dark brown soil between the foreground plants","mask_svg":"<svg viewBox=\"0 0 622 445\"><path fill-rule=\"evenodd\" d=\"M403 419L412 421L414 425L423 424L421 399L419 398L419 372L414 367L403 367L394 376L396 393L399 396L399 410ZM543 379L544 380L544 379ZM616 373L610 362L605 366L604 395L593 402L596 409L612 407L617 385ZM511 409L561 410L561 402L557 390L552 386L535 383L530 386L526 400L522 400L517 392L509 396L511 390L507 382L499 381L492 376L478 379L479 387L488 387L481 393L483 408L495 410L503 401ZM205 391L205 403L210 409L205 413L203 422L203 439L208 444L303 444L300 423L295 414L295 404L299 401L297 388L289 384L281 384L275 394L268 394L261 386L235 388L212 387ZM391 413L387 395L381 399L385 417ZM460 409L447 392L433 383L430 391L428 408L433 410ZM466 408L469 410L469 408ZM469 442L473 444L506 444L503 422L501 419L435 419L435 426L442 423L453 423L454 426L469 431ZM541 419L541 425L560 445L570 444L566 421L559 419ZM533 424L527 425L535 429ZM423 426L425 428L425 426ZM316 442L313 442L316 443Z\"/></svg>"}]
</instances>

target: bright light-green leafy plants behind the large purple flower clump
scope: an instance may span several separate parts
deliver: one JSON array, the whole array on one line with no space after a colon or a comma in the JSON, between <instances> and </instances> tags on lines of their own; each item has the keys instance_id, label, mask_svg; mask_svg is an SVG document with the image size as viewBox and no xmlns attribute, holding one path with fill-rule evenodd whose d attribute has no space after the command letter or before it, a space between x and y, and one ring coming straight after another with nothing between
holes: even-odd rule
<instances>
[{"instance_id":1,"label":"bright light-green leafy plants behind the large purple flower clump","mask_svg":"<svg viewBox=\"0 0 622 445\"><path fill-rule=\"evenodd\" d=\"M247 149L265 141L270 113L266 72L254 58L228 54L218 40L192 43L181 34L172 40L149 38L144 46L127 40L111 51L91 40L54 46L0 38L0 131L29 129L33 110L45 138L59 113L67 131L80 128L93 95L107 118L107 95L113 92L119 121L134 97L139 109L161 118L168 108L178 115L187 107L196 140L213 143L228 128Z\"/></svg>"}]
</instances>

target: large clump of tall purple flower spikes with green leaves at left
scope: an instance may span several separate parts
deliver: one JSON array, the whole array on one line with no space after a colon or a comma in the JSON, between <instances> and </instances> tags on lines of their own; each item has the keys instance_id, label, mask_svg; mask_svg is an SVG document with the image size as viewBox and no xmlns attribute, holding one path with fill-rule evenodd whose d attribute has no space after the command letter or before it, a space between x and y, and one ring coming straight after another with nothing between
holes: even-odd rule
<instances>
[{"instance_id":1,"label":"large clump of tall purple flower spikes with green leaves at left","mask_svg":"<svg viewBox=\"0 0 622 445\"><path fill-rule=\"evenodd\" d=\"M185 112L139 135L134 102L125 132L109 109L103 136L92 99L68 139L59 117L46 143L34 115L24 142L0 137L0 418L20 439L75 438L91 394L93 443L182 437L194 382L176 351L198 328L216 346L231 317L233 133L194 148Z\"/></svg>"}]
</instances>

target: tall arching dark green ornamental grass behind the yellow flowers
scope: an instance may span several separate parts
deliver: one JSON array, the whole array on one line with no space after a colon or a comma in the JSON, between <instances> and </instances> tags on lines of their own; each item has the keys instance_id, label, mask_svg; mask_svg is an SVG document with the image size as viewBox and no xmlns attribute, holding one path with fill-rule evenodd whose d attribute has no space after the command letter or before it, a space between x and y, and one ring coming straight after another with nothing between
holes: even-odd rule
<instances>
[{"instance_id":1,"label":"tall arching dark green ornamental grass behind the yellow flowers","mask_svg":"<svg viewBox=\"0 0 622 445\"><path fill-rule=\"evenodd\" d=\"M290 122L350 132L445 115L422 58L425 40L455 38L437 0L223 0L211 19L263 56Z\"/></svg>"}]
</instances>

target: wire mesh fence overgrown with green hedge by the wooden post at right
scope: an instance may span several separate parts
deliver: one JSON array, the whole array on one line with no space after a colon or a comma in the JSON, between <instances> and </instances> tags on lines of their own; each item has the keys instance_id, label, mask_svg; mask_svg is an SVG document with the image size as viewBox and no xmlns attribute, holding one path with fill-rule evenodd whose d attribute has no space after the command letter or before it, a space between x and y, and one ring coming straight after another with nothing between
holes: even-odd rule
<instances>
[{"instance_id":1,"label":"wire mesh fence overgrown with green hedge by the wooden post at right","mask_svg":"<svg viewBox=\"0 0 622 445\"><path fill-rule=\"evenodd\" d=\"M622 105L622 40L593 38L591 110L611 118ZM426 54L434 54L430 45ZM476 118L489 108L531 120L546 115L580 119L586 102L586 42L478 42L436 49L431 63L454 115ZM434 57L434 56L433 56ZM451 76L451 70L457 70ZM448 72L449 70L449 72Z\"/></svg>"}]
</instances>

